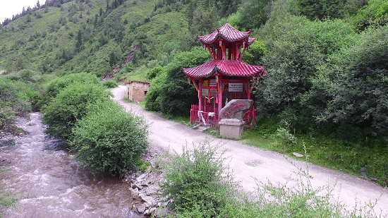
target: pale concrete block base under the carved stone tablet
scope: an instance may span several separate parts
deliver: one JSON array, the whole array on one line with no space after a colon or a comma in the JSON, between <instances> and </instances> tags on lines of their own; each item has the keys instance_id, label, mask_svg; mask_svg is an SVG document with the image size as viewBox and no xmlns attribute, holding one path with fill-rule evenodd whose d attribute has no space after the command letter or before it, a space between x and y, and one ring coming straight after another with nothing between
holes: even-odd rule
<instances>
[{"instance_id":1,"label":"pale concrete block base under the carved stone tablet","mask_svg":"<svg viewBox=\"0 0 388 218\"><path fill-rule=\"evenodd\" d=\"M219 134L228 138L241 138L244 121L239 119L222 119L219 121Z\"/></svg>"}]
</instances>

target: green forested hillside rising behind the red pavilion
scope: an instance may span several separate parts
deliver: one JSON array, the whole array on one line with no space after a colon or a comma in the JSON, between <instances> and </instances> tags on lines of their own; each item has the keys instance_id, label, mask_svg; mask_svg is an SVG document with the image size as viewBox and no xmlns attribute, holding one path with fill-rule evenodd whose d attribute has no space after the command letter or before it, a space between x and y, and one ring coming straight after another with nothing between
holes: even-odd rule
<instances>
[{"instance_id":1,"label":"green forested hillside rising behind the red pavilion","mask_svg":"<svg viewBox=\"0 0 388 218\"><path fill-rule=\"evenodd\" d=\"M47 0L0 25L0 116L39 110L49 101L41 84L80 72L150 81L147 109L187 115L197 94L181 67L210 59L196 36L227 20L252 30L243 60L268 72L254 90L256 130L324 135L353 152L353 171L372 166L368 150L379 157L368 171L387 183L387 13L387 0Z\"/></svg>"}]
</instances>

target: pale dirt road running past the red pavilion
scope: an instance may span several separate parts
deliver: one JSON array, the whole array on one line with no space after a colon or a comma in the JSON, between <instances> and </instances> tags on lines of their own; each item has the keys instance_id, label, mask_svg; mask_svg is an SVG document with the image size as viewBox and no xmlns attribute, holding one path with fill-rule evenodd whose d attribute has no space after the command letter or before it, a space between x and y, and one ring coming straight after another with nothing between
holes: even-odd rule
<instances>
[{"instance_id":1,"label":"pale dirt road running past the red pavilion","mask_svg":"<svg viewBox=\"0 0 388 218\"><path fill-rule=\"evenodd\" d=\"M296 181L296 174L294 173L294 171L297 171L296 166L305 168L303 162L293 160L296 164L296 166L293 166L283 155L276 152L243 145L235 140L215 138L212 135L195 131L181 123L163 119L156 114L145 111L138 105L123 102L121 99L123 99L125 90L125 86L112 89L114 100L123 105L127 111L143 116L147 120L150 124L150 145L175 150L178 153L182 151L182 146L186 143L190 148L193 144L198 145L198 143L204 142L206 138L214 145L222 145L222 149L226 150L226 157L230 157L229 166L233 170L236 180L240 181L241 186L247 191L254 191L257 188L255 178L264 183L267 181L285 183L287 179L292 183ZM382 187L362 178L349 176L313 164L308 165L310 175L313 176L313 179L310 180L312 186L315 188L318 186L333 186L337 183L333 191L334 197L341 200L348 209L355 207L356 201L359 205L359 202L369 202L370 200L374 202L375 199L380 198L377 205L375 205L375 211L388 212L388 190L384 192Z\"/></svg>"}]
</instances>

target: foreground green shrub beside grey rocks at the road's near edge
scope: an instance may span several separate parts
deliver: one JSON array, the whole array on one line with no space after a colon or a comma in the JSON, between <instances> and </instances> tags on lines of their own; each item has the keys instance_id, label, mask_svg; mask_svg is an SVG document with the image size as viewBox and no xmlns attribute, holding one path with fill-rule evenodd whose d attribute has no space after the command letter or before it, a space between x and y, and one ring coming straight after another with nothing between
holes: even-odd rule
<instances>
[{"instance_id":1,"label":"foreground green shrub beside grey rocks at the road's near edge","mask_svg":"<svg viewBox=\"0 0 388 218\"><path fill-rule=\"evenodd\" d=\"M215 217L233 198L236 183L224 166L222 154L209 143L200 143L194 150L183 147L182 155L167 155L162 164L164 181L159 185L162 196L174 200L169 207L178 213L199 209L204 217Z\"/></svg>"}]
</instances>

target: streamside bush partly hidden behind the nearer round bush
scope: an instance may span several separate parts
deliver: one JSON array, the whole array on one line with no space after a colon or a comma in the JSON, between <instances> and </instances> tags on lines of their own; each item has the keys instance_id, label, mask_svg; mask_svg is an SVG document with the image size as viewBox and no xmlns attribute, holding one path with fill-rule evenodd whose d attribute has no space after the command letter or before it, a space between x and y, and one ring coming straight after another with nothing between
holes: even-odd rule
<instances>
[{"instance_id":1,"label":"streamside bush partly hidden behind the nearer round bush","mask_svg":"<svg viewBox=\"0 0 388 218\"><path fill-rule=\"evenodd\" d=\"M46 133L63 139L71 138L71 129L86 114L89 104L107 101L111 96L102 85L75 83L67 86L42 109L42 123L47 124Z\"/></svg>"}]
</instances>

